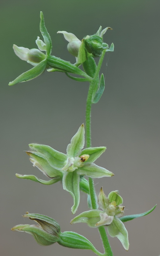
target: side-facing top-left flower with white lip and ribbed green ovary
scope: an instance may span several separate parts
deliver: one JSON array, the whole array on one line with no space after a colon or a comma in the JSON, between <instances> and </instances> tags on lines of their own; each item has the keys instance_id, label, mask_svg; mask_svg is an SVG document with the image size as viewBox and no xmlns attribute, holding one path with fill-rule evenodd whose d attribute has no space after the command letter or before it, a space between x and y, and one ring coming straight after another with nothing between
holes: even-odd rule
<instances>
[{"instance_id":1,"label":"side-facing top-left flower with white lip and ribbed green ovary","mask_svg":"<svg viewBox=\"0 0 160 256\"><path fill-rule=\"evenodd\" d=\"M43 36L44 42L39 39L39 36L36 40L36 44L38 49L28 49L24 47L18 47L17 45L13 45L14 52L21 59L25 60L34 67L30 70L24 72L20 76L18 76L15 80L9 83L9 85L14 85L21 82L26 82L32 80L42 74L46 68L47 71L59 71L59 72L69 72L73 74L77 74L80 76L86 77L87 81L91 80L90 76L82 71L80 68L71 64L69 61L62 60L58 57L51 56L52 51L52 42L51 37L45 27L45 21L43 12L40 12L40 32ZM44 54L42 51L45 51Z\"/></svg>"}]
</instances>

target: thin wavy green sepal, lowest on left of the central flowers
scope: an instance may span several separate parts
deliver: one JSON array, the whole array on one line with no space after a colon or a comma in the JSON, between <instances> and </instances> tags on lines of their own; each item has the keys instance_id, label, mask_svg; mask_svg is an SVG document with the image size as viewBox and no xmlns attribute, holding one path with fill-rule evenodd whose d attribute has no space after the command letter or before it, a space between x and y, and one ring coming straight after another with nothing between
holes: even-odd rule
<instances>
[{"instance_id":1,"label":"thin wavy green sepal, lowest on left of the central flowers","mask_svg":"<svg viewBox=\"0 0 160 256\"><path fill-rule=\"evenodd\" d=\"M59 180L61 180L61 178L58 178L58 177L53 178L51 180L41 180L41 179L38 179L34 175L23 175L23 174L18 174L18 173L16 173L16 177L20 178L20 179L33 180L33 181L39 182L44 185L51 185L51 184L54 184L54 183L58 182Z\"/></svg>"}]
</instances>

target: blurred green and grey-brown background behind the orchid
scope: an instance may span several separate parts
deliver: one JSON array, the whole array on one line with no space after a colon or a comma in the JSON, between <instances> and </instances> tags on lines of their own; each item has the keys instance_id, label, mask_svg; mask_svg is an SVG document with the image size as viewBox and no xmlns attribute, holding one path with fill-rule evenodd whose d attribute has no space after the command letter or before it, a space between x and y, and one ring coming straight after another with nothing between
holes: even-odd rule
<instances>
[{"instance_id":1,"label":"blurred green and grey-brown background behind the orchid","mask_svg":"<svg viewBox=\"0 0 160 256\"><path fill-rule=\"evenodd\" d=\"M123 197L125 214L141 213L155 204L150 215L125 224L130 248L126 252L117 238L109 238L115 256L158 256L160 172L160 36L157 0L1 0L1 239L3 256L93 255L91 251L73 250L53 244L42 247L33 237L11 232L24 220L26 212L56 219L61 230L86 236L102 250L97 229L87 224L70 225L72 197L60 183L45 186L20 180L15 173L34 174L24 150L29 143L40 143L66 153L66 146L78 127L85 122L88 84L75 82L62 73L45 72L38 78L14 86L8 82L31 68L13 52L12 45L36 48L41 36L39 13L52 38L52 54L75 62L67 42L58 30L74 33L82 39L94 34L99 26L110 26L104 42L115 44L115 52L106 54L102 71L106 89L92 108L92 145L107 146L96 161L115 173L112 178L95 180L97 193L101 186L108 193L118 189ZM41 37L42 39L42 37ZM81 193L77 214L87 210L86 195Z\"/></svg>"}]
</instances>

